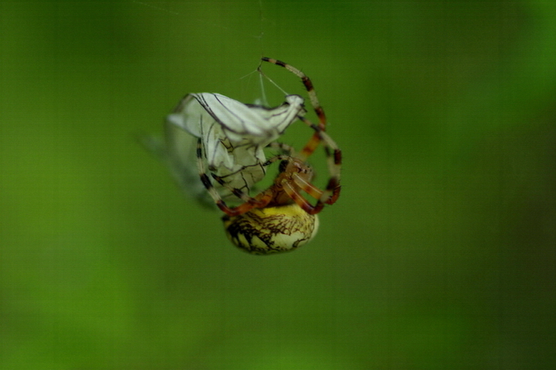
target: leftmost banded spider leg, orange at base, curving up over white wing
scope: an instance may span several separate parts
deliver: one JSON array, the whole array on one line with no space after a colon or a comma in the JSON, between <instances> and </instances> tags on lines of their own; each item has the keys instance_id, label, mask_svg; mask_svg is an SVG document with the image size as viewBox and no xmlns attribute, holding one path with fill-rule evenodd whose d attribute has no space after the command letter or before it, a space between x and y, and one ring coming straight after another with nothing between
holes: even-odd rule
<instances>
[{"instance_id":1,"label":"leftmost banded spider leg, orange at base, curving up over white wing","mask_svg":"<svg viewBox=\"0 0 556 370\"><path fill-rule=\"evenodd\" d=\"M215 179L217 183L224 187L227 187L232 192L232 194L244 201L244 203L238 205L237 207L229 207L226 202L222 200L222 197L220 197L220 194L217 192L214 185L212 185L212 182L205 171L202 149L202 140L201 138L198 138L197 168L199 170L199 177L201 179L202 185L205 185L207 192L210 194L212 199L215 200L217 207L219 207L222 212L225 212L229 216L237 216L242 215L245 212L249 212L249 210L252 210L254 207L262 208L269 204L269 202L272 200L272 190L265 190L264 192L261 192L259 195L257 195L257 197L249 197L249 195L242 190L227 185L227 183L225 183L225 181L220 176L211 174L212 178Z\"/></svg>"}]
</instances>

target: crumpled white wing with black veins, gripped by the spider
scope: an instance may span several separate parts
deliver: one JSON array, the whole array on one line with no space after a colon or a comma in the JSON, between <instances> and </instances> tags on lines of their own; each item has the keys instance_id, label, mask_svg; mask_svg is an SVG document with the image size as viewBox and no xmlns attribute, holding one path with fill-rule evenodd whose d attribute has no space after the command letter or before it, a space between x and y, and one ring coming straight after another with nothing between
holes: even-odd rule
<instances>
[{"instance_id":1,"label":"crumpled white wing with black veins, gripped by the spider","mask_svg":"<svg viewBox=\"0 0 556 370\"><path fill-rule=\"evenodd\" d=\"M264 147L277 140L298 115L304 115L303 103L297 95L286 96L276 108L249 106L217 93L185 96L167 119L167 145L175 175L181 183L193 177L198 180L195 145L201 138L205 168L224 177L231 187L248 191L264 178ZM183 136L185 131L192 135L191 140ZM190 190L204 197L204 189L198 185L190 185ZM230 196L227 189L215 187L222 197Z\"/></svg>"}]
</instances>

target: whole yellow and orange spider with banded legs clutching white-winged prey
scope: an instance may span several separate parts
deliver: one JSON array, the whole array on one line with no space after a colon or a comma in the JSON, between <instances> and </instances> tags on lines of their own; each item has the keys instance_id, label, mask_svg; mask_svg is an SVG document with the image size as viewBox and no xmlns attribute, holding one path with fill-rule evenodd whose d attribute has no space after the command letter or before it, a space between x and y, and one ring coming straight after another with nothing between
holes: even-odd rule
<instances>
[{"instance_id":1,"label":"whole yellow and orange spider with banded legs clutching white-winged prey","mask_svg":"<svg viewBox=\"0 0 556 370\"><path fill-rule=\"evenodd\" d=\"M277 59L264 57L261 60L286 68L301 78L319 123L314 124L307 120L301 111L295 115L294 119L302 120L312 128L314 130L312 137L299 153L283 143L274 141L267 145L267 148L278 149L281 153L258 164L261 168L266 168L272 163L279 162L279 173L270 187L254 197L241 188L232 186L232 182L225 177L214 172L210 175L207 174L205 169L207 153L202 137L197 138L196 155L202 185L217 207L225 212L222 221L227 237L233 244L246 252L267 255L294 250L314 237L319 226L317 214L321 212L325 204L334 204L340 195L341 150L325 132L326 115L316 98L316 92L309 77L299 69ZM324 145L330 175L324 190L311 183L313 170L306 162L320 143ZM242 173L244 170L246 170L245 167L235 174ZM235 207L227 205L215 189L215 185L227 189L243 203ZM316 202L314 204L309 202L301 191L313 197Z\"/></svg>"}]
</instances>

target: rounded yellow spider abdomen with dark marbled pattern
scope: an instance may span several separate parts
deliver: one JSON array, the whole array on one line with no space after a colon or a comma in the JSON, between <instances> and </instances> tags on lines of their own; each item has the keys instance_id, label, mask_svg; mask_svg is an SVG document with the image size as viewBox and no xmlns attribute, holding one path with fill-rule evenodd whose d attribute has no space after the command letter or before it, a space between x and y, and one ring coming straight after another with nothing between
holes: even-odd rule
<instances>
[{"instance_id":1,"label":"rounded yellow spider abdomen with dark marbled pattern","mask_svg":"<svg viewBox=\"0 0 556 370\"><path fill-rule=\"evenodd\" d=\"M319 228L318 216L309 215L296 203L225 215L222 221L228 239L254 255L295 250L312 240Z\"/></svg>"}]
</instances>

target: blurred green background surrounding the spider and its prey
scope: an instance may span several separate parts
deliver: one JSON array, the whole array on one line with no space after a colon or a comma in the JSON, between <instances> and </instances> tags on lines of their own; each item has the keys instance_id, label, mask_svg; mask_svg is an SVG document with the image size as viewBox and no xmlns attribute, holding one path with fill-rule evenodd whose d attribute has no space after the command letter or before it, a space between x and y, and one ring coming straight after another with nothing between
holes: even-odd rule
<instances>
[{"instance_id":1,"label":"blurred green background surrounding the spider and its prey","mask_svg":"<svg viewBox=\"0 0 556 370\"><path fill-rule=\"evenodd\" d=\"M0 368L553 369L551 3L3 1ZM344 150L270 257L135 140L185 93L260 97L263 54Z\"/></svg>"}]
</instances>

